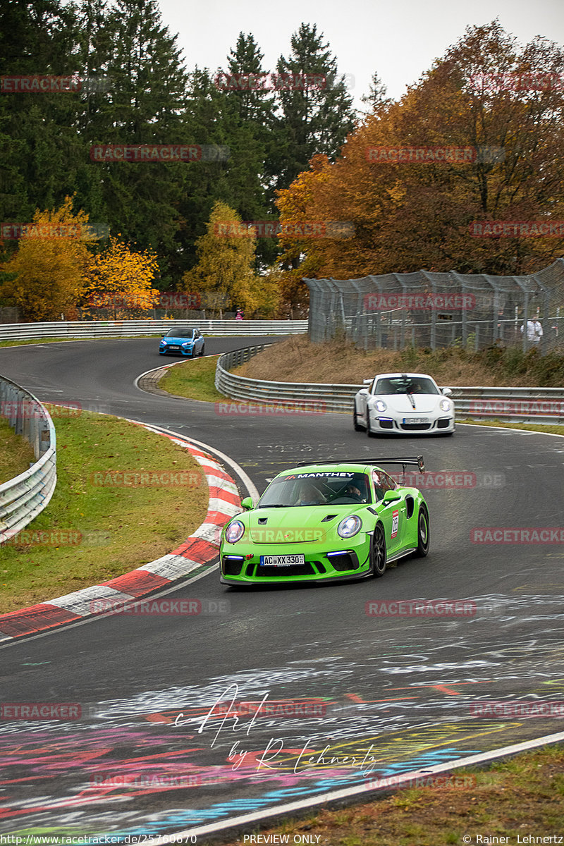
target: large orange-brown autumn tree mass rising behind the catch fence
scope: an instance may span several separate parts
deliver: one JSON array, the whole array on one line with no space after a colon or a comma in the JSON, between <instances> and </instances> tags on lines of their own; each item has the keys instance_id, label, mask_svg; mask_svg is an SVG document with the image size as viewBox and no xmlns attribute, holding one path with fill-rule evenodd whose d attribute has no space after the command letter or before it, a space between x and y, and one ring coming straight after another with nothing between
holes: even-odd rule
<instances>
[{"instance_id":1,"label":"large orange-brown autumn tree mass rising behind the catch fence","mask_svg":"<svg viewBox=\"0 0 564 846\"><path fill-rule=\"evenodd\" d=\"M552 237L476 238L473 221L562 220L564 106L557 86L481 85L480 74L553 74L564 51L534 39L519 48L494 21L471 27L400 102L381 102L348 136L337 162L313 159L277 206L282 222L353 224L354 237L288 246L287 285L299 277L360 277L420 268L459 272L538 270L561 255ZM525 77L523 76L523 79ZM474 151L467 161L409 153L404 161L374 155L393 150ZM560 152L559 152L560 151ZM318 157L319 158L319 157Z\"/></svg>"}]
</instances>

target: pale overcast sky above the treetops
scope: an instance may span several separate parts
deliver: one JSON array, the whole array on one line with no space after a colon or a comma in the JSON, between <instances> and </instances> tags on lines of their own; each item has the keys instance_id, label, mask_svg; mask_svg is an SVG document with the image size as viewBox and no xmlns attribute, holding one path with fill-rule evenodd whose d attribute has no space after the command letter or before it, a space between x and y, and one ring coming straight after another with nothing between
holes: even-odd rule
<instances>
[{"instance_id":1,"label":"pale overcast sky above the treetops","mask_svg":"<svg viewBox=\"0 0 564 846\"><path fill-rule=\"evenodd\" d=\"M227 68L239 32L252 33L263 68L276 69L288 56L301 23L316 24L337 58L340 74L351 74L354 105L369 91L376 71L387 95L398 99L419 80L468 25L501 26L523 44L540 35L564 43L564 0L160 0L163 23L178 33L186 67Z\"/></svg>"}]
</instances>

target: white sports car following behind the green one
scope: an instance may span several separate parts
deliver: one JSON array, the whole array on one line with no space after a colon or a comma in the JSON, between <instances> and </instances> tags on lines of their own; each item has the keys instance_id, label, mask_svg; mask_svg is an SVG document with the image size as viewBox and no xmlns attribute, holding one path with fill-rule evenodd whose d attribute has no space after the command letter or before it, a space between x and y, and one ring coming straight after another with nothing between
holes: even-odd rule
<instances>
[{"instance_id":1,"label":"white sports car following behind the green one","mask_svg":"<svg viewBox=\"0 0 564 846\"><path fill-rule=\"evenodd\" d=\"M379 373L364 379L354 397L353 426L369 437L415 432L452 435L454 403L450 387L439 387L424 373Z\"/></svg>"}]
</instances>

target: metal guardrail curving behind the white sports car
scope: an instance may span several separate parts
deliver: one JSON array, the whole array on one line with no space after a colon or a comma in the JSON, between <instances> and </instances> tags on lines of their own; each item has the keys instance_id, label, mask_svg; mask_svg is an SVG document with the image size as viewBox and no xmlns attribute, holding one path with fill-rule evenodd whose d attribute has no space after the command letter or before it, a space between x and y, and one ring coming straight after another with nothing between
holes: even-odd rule
<instances>
[{"instance_id":1,"label":"metal guardrail curving behind the white sports car","mask_svg":"<svg viewBox=\"0 0 564 846\"><path fill-rule=\"evenodd\" d=\"M216 388L227 397L263 404L298 404L320 411L352 412L353 398L364 385L319 382L268 382L230 372L269 344L236 349L219 357ZM564 390L560 387L454 387L457 419L507 420L564 424Z\"/></svg>"}]
</instances>

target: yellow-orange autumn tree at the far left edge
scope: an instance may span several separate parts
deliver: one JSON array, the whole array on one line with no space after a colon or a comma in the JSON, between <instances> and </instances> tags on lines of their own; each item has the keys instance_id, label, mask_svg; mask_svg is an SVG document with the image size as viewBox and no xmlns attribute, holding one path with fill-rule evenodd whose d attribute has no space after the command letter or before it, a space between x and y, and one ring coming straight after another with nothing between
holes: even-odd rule
<instances>
[{"instance_id":1,"label":"yellow-orange autumn tree at the far left edge","mask_svg":"<svg viewBox=\"0 0 564 846\"><path fill-rule=\"evenodd\" d=\"M57 320L85 289L93 244L88 215L73 211L71 197L53 211L36 211L18 251L3 265L8 280L0 296L27 321Z\"/></svg>"}]
</instances>

